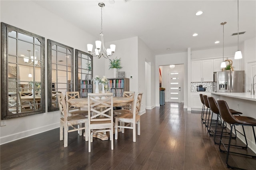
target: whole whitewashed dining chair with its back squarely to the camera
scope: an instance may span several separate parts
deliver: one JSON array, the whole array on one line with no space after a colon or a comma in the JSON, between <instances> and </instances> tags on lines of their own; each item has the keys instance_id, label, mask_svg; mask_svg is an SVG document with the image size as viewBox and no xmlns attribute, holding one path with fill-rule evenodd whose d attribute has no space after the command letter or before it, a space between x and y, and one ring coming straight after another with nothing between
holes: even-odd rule
<instances>
[{"instance_id":1,"label":"whole whitewashed dining chair with its back squarely to the camera","mask_svg":"<svg viewBox=\"0 0 256 170\"><path fill-rule=\"evenodd\" d=\"M88 93L88 152L91 152L93 133L109 132L113 144L113 93Z\"/></svg>"}]
</instances>

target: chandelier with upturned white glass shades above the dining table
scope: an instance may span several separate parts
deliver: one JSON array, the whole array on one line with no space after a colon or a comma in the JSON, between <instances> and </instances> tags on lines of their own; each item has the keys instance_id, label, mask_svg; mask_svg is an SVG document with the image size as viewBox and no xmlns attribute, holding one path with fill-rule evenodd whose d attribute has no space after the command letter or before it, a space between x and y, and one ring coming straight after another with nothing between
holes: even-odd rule
<instances>
[{"instance_id":1,"label":"chandelier with upturned white glass shades above the dining table","mask_svg":"<svg viewBox=\"0 0 256 170\"><path fill-rule=\"evenodd\" d=\"M115 52L116 45L111 44L110 48L106 49L104 46L104 40L103 40L103 31L102 31L102 7L105 6L103 2L100 2L98 4L101 8L101 30L100 30L100 41L96 41L96 48L94 49L94 53L92 53L92 44L87 44L87 51L92 55L92 56L97 56L100 58L101 56L105 58L109 58L113 53ZM94 55L95 54L95 55Z\"/></svg>"}]
</instances>

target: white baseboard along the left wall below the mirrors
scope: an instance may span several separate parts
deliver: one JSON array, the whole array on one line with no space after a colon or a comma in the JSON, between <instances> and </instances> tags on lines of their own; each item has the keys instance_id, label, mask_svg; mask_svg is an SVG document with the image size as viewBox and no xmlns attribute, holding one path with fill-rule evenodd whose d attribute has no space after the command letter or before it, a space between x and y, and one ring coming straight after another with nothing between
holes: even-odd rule
<instances>
[{"instance_id":1,"label":"white baseboard along the left wall below the mirrors","mask_svg":"<svg viewBox=\"0 0 256 170\"><path fill-rule=\"evenodd\" d=\"M0 138L0 145L9 143L9 142L12 142L12 141L15 141L15 140L19 140L19 139L22 139L22 138L26 138L28 136L32 136L32 135L35 135L35 134L39 134L39 133L42 133L42 132L46 132L48 130L52 130L54 128L59 128L59 127L60 127L60 123L54 123L54 124L51 124L51 125L46 125L44 127L38 127L38 128L26 130L26 131L15 133L15 134L2 136Z\"/></svg>"}]
</instances>

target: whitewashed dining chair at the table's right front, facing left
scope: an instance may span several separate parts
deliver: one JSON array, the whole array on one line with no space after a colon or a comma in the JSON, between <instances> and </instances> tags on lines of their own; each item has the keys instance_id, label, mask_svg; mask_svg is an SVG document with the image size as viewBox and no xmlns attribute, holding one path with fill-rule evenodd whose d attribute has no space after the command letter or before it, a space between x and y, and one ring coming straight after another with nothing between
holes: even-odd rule
<instances>
[{"instance_id":1,"label":"whitewashed dining chair at the table's right front, facing left","mask_svg":"<svg viewBox=\"0 0 256 170\"><path fill-rule=\"evenodd\" d=\"M135 95L132 111L128 113L122 113L115 117L115 139L118 139L118 128L129 128L132 129L133 142L136 142L136 124L138 124L138 135L140 135L140 106L142 100L142 94L138 93ZM121 123L128 123L127 125ZM120 123L120 125L118 125ZM122 130L124 133L124 130Z\"/></svg>"}]
</instances>

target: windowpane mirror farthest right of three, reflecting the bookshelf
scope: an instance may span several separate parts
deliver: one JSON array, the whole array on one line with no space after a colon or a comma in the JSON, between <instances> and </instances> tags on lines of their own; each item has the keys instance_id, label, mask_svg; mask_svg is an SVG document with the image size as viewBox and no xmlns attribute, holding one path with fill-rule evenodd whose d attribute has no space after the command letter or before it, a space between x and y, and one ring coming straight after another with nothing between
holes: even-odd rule
<instances>
[{"instance_id":1,"label":"windowpane mirror farthest right of three, reflecting the bookshelf","mask_svg":"<svg viewBox=\"0 0 256 170\"><path fill-rule=\"evenodd\" d=\"M75 50L75 77L76 91L80 97L87 97L87 93L92 93L92 55L89 53Z\"/></svg>"}]
</instances>

